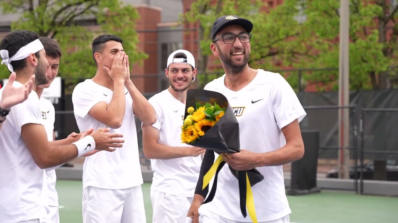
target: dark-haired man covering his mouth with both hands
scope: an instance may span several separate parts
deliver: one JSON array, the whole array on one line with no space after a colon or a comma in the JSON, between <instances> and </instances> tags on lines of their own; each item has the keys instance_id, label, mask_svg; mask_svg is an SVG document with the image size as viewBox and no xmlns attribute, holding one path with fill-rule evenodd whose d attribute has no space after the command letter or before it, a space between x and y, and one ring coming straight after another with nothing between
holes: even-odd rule
<instances>
[{"instance_id":1,"label":"dark-haired man covering his mouth with both hands","mask_svg":"<svg viewBox=\"0 0 398 223\"><path fill-rule=\"evenodd\" d=\"M84 160L83 222L146 222L138 154L137 116L152 125L156 113L130 78L129 57L121 38L100 35L92 42L97 73L76 85L72 102L80 130L111 127L125 135L125 150L112 156L98 152Z\"/></svg>"}]
</instances>

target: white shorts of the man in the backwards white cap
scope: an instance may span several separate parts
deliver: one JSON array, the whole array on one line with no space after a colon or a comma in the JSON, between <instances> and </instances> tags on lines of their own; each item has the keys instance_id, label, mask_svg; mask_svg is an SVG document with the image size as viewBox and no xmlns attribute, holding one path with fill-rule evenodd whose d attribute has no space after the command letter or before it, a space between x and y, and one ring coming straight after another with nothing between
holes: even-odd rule
<instances>
[{"instance_id":1,"label":"white shorts of the man in the backwards white cap","mask_svg":"<svg viewBox=\"0 0 398 223\"><path fill-rule=\"evenodd\" d=\"M187 198L151 190L150 200L153 210L152 223L185 223L193 197Z\"/></svg>"}]
</instances>

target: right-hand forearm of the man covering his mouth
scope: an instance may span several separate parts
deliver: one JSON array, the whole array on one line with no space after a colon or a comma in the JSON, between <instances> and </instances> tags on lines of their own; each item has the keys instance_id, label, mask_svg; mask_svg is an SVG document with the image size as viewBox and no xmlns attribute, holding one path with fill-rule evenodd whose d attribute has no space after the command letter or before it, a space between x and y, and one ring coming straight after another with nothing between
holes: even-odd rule
<instances>
[{"instance_id":1,"label":"right-hand forearm of the man covering his mouth","mask_svg":"<svg viewBox=\"0 0 398 223\"><path fill-rule=\"evenodd\" d=\"M134 114L146 125L155 123L156 112L148 100L140 93L132 81L126 84L126 88L129 90L129 94L133 99L132 109Z\"/></svg>"}]
</instances>

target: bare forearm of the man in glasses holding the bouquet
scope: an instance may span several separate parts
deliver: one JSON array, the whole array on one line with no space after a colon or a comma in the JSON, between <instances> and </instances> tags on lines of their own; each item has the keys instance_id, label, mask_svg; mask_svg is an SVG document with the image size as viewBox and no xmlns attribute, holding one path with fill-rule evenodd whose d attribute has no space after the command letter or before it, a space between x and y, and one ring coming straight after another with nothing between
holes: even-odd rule
<instances>
[{"instance_id":1,"label":"bare forearm of the man in glasses holding the bouquet","mask_svg":"<svg viewBox=\"0 0 398 223\"><path fill-rule=\"evenodd\" d=\"M287 143L278 150L261 153L260 166L279 166L299 160L304 155L304 146Z\"/></svg>"}]
</instances>

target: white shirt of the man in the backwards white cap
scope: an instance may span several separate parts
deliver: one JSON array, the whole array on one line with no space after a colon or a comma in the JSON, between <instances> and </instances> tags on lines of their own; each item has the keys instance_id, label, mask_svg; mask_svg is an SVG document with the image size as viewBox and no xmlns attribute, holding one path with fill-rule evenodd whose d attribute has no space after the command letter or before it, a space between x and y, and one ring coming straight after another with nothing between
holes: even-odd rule
<instances>
[{"instance_id":1,"label":"white shirt of the man in the backwards white cap","mask_svg":"<svg viewBox=\"0 0 398 223\"><path fill-rule=\"evenodd\" d=\"M159 143L166 146L190 146L181 143L181 126L185 104L174 98L169 90L155 94L148 100L156 111ZM170 160L150 160L153 173L151 190L176 196L193 197L202 163L201 156Z\"/></svg>"}]
</instances>

